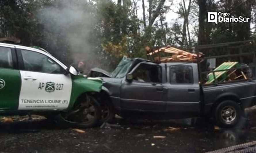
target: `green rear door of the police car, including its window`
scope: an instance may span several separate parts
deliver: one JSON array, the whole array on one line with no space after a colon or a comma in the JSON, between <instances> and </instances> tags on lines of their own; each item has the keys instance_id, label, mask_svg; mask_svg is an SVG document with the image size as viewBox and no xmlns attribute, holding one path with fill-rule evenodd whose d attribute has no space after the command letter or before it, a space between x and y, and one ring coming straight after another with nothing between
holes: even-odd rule
<instances>
[{"instance_id":1,"label":"green rear door of the police car, including its window","mask_svg":"<svg viewBox=\"0 0 256 153\"><path fill-rule=\"evenodd\" d=\"M16 110L20 94L20 72L15 49L0 46L0 110Z\"/></svg>"}]
</instances>

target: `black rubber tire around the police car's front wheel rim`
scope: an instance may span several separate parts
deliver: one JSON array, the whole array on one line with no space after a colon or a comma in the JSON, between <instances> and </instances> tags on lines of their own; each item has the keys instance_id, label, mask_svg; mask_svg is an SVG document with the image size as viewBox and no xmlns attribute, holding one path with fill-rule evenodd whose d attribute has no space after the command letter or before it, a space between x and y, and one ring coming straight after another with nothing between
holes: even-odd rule
<instances>
[{"instance_id":1,"label":"black rubber tire around the police car's front wheel rim","mask_svg":"<svg viewBox=\"0 0 256 153\"><path fill-rule=\"evenodd\" d=\"M72 122L72 121L67 121L64 119L64 117L61 115L62 121L64 121L65 126L68 127L78 127L78 128L90 128L90 127L94 127L98 121L100 120L100 115L101 115L101 107L99 102L93 98L92 96L90 96L91 99L91 104L95 107L95 117L92 121L88 122L88 123L78 123L78 122Z\"/></svg>"}]
</instances>

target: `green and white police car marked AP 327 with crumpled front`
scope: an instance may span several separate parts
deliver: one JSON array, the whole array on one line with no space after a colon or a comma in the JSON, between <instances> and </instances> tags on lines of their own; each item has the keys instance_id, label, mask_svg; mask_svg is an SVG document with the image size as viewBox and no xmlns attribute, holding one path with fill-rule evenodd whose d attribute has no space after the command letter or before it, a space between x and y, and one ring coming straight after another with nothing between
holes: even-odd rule
<instances>
[{"instance_id":1,"label":"green and white police car marked AP 327 with crumpled front","mask_svg":"<svg viewBox=\"0 0 256 153\"><path fill-rule=\"evenodd\" d=\"M46 51L0 43L0 113L61 116L74 126L100 120L102 81L85 78Z\"/></svg>"}]
</instances>

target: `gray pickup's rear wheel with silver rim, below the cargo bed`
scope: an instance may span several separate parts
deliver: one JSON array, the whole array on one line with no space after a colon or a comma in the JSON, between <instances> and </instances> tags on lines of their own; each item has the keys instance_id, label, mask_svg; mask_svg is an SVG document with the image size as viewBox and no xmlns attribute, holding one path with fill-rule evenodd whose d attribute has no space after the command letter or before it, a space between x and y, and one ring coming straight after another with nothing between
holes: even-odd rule
<instances>
[{"instance_id":1,"label":"gray pickup's rear wheel with silver rim, below the cargo bed","mask_svg":"<svg viewBox=\"0 0 256 153\"><path fill-rule=\"evenodd\" d=\"M241 115L240 106L233 100L224 100L215 109L215 121L220 127L234 127Z\"/></svg>"}]
</instances>

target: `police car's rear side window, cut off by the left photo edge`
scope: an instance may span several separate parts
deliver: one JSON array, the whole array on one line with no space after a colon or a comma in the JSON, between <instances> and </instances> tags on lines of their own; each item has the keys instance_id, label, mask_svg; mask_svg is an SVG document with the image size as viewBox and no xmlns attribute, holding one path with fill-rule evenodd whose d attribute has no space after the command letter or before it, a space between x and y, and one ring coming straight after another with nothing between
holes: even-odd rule
<instances>
[{"instance_id":1,"label":"police car's rear side window, cut off by the left photo edge","mask_svg":"<svg viewBox=\"0 0 256 153\"><path fill-rule=\"evenodd\" d=\"M11 49L7 47L0 47L0 55L0 67L13 68Z\"/></svg>"}]
</instances>

